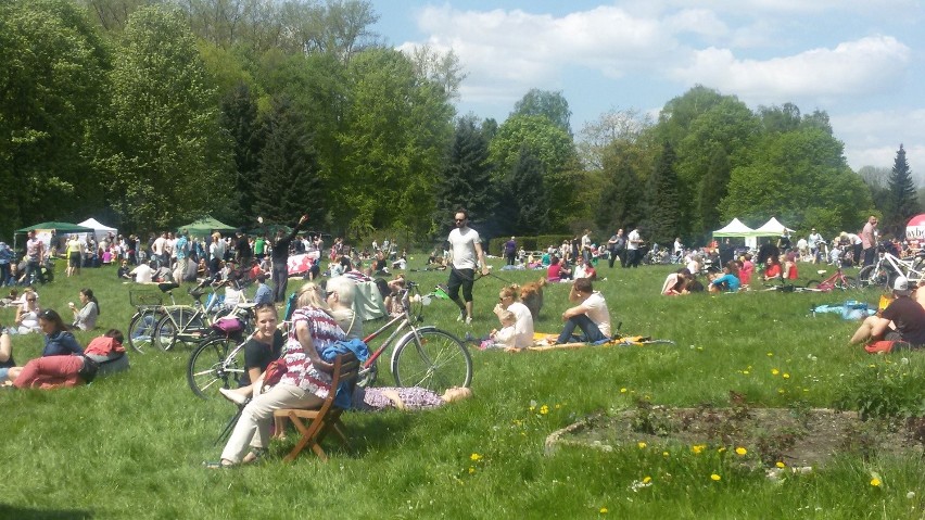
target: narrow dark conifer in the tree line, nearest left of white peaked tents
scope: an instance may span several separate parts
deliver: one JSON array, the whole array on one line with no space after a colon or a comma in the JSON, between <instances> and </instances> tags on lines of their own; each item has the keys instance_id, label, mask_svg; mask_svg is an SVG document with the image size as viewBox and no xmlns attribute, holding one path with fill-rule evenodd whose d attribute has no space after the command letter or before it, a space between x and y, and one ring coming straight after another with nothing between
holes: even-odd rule
<instances>
[{"instance_id":1,"label":"narrow dark conifer in the tree line, nearest left of white peaked tents","mask_svg":"<svg viewBox=\"0 0 925 520\"><path fill-rule=\"evenodd\" d=\"M669 244L681 227L675 161L674 148L666 141L646 185L647 217L643 228L650 242Z\"/></svg>"}]
</instances>

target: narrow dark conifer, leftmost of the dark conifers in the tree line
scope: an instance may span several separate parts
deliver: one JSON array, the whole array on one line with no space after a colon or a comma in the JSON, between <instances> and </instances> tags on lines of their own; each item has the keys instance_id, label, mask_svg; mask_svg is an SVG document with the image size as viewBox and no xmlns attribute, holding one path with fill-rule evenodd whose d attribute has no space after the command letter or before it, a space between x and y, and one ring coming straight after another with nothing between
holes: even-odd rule
<instances>
[{"instance_id":1,"label":"narrow dark conifer, leftmost of the dark conifers in the tree line","mask_svg":"<svg viewBox=\"0 0 925 520\"><path fill-rule=\"evenodd\" d=\"M231 192L227 215L219 219L244 225L255 218L254 193L258 191L259 154L263 148L258 131L257 105L245 83L221 100L219 123L233 142L235 190ZM218 216L218 215L216 215Z\"/></svg>"}]
</instances>

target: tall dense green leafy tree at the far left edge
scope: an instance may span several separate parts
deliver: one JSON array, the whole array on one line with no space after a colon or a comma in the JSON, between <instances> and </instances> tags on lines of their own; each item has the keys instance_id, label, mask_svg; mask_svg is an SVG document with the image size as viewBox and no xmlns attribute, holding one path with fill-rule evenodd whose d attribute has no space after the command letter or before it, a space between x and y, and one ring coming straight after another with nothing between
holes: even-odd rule
<instances>
[{"instance_id":1,"label":"tall dense green leafy tree at the far left edge","mask_svg":"<svg viewBox=\"0 0 925 520\"><path fill-rule=\"evenodd\" d=\"M0 236L103 206L88 150L105 105L110 55L64 0L0 4Z\"/></svg>"}]
</instances>

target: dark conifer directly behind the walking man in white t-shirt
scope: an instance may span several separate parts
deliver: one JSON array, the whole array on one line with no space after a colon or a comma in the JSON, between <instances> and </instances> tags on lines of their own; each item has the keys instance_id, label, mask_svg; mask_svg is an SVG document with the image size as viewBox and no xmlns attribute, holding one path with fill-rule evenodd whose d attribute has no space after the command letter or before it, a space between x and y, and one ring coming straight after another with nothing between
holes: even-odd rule
<instances>
[{"instance_id":1,"label":"dark conifer directly behind the walking man in white t-shirt","mask_svg":"<svg viewBox=\"0 0 925 520\"><path fill-rule=\"evenodd\" d=\"M479 221L494 213L492 165L489 162L489 140L477 128L473 117L463 117L436 187L434 221L439 234L452 228L453 215L459 206L469 212L469 219Z\"/></svg>"}]
</instances>

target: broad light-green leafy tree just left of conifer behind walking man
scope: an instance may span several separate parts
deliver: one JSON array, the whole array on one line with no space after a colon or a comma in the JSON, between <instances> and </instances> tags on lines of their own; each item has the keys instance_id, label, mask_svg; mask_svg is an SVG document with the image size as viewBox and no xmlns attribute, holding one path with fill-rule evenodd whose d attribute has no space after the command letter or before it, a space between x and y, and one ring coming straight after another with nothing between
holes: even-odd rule
<instances>
[{"instance_id":1,"label":"broad light-green leafy tree just left of conifer behind walking man","mask_svg":"<svg viewBox=\"0 0 925 520\"><path fill-rule=\"evenodd\" d=\"M446 91L392 49L355 55L349 79L331 193L335 221L359 238L377 229L430 231L438 174L453 137Z\"/></svg>"}]
</instances>

